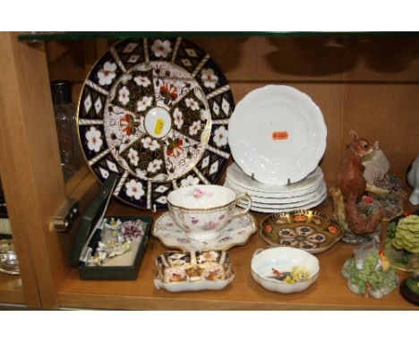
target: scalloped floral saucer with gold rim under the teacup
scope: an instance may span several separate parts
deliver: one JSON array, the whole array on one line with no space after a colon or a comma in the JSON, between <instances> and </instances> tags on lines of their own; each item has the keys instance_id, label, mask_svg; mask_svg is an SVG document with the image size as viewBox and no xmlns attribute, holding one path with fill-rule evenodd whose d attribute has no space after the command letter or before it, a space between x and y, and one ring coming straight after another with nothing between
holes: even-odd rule
<instances>
[{"instance_id":1,"label":"scalloped floral saucer with gold rim under the teacup","mask_svg":"<svg viewBox=\"0 0 419 342\"><path fill-rule=\"evenodd\" d=\"M217 239L209 241L192 240L186 236L184 230L177 227L167 211L162 214L153 227L153 236L169 248L178 248L182 251L226 251L240 244L246 244L250 236L256 232L256 222L252 214L231 220L221 229Z\"/></svg>"}]
</instances>

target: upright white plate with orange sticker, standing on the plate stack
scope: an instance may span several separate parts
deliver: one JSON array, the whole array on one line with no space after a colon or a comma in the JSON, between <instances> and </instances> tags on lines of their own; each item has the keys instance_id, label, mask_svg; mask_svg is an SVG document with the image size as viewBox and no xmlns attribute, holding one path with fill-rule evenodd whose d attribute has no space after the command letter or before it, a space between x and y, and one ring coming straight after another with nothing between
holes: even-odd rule
<instances>
[{"instance_id":1,"label":"upright white plate with orange sticker, standing on the plate stack","mask_svg":"<svg viewBox=\"0 0 419 342\"><path fill-rule=\"evenodd\" d=\"M319 164L327 128L321 109L293 87L252 90L235 107L228 142L246 175L264 184L295 183Z\"/></svg>"}]
</instances>

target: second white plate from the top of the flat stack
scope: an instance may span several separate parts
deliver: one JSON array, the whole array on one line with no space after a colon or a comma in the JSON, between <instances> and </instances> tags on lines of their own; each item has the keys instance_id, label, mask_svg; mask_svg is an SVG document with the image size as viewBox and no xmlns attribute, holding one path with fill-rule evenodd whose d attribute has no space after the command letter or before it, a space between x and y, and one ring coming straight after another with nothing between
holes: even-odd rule
<instances>
[{"instance_id":1,"label":"second white plate from the top of the flat stack","mask_svg":"<svg viewBox=\"0 0 419 342\"><path fill-rule=\"evenodd\" d=\"M298 203L301 201L313 200L316 197L318 197L321 192L323 192L323 188L326 187L326 183L322 181L321 184L317 188L312 190L312 192L305 193L301 196L290 196L290 197L288 197L287 194L285 195L285 197L259 196L258 194L255 194L255 192L246 191L246 190L243 190L243 188L240 188L234 184L231 184L230 181L228 180L226 180L226 182L224 183L224 186L227 186L228 188L234 190L237 193L246 192L252 198L252 202L255 202L255 203L284 204L284 203Z\"/></svg>"}]
</instances>

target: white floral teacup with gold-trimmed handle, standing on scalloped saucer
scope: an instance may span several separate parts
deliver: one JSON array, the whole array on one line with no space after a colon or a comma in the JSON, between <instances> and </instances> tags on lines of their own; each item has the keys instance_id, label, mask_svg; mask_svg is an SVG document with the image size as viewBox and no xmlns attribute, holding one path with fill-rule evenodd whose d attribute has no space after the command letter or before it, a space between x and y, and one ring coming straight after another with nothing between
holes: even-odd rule
<instances>
[{"instance_id":1,"label":"white floral teacup with gold-trimmed handle, standing on scalloped saucer","mask_svg":"<svg viewBox=\"0 0 419 342\"><path fill-rule=\"evenodd\" d=\"M237 210L236 202L247 200L245 209ZM220 185L185 186L167 196L170 216L193 240L209 241L218 237L233 218L243 216L252 206L246 193L238 195Z\"/></svg>"}]
</instances>

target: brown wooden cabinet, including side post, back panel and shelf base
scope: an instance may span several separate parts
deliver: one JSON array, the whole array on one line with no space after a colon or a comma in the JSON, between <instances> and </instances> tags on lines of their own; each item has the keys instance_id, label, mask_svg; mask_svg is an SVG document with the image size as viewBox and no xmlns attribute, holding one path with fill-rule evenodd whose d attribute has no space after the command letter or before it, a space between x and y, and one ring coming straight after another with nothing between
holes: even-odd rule
<instances>
[{"instance_id":1,"label":"brown wooden cabinet, including side post, back panel and shelf base","mask_svg":"<svg viewBox=\"0 0 419 342\"><path fill-rule=\"evenodd\" d=\"M54 80L73 81L76 102L91 66L113 42L112 37L97 38L105 39L27 44L19 41L17 33L0 33L0 72L4 79L0 82L0 98L7 99L0 115L4 127L0 135L0 173L21 267L21 278L0 274L0 303L44 309L417 308L398 292L381 300L349 292L340 269L351 257L353 247L343 244L319 255L321 276L307 291L294 295L270 293L250 275L252 252L266 247L257 234L248 244L230 250L235 280L222 291L158 291L153 285L154 261L165 248L155 239L137 280L80 280L77 269L69 263L75 230L57 233L51 220L68 197L78 200L83 212L98 182L88 167L81 167L64 184L49 86ZM217 61L235 103L267 84L293 86L313 98L328 127L327 149L321 160L326 179L336 181L348 132L354 129L371 142L380 142L393 173L405 182L406 168L418 153L419 36L188 38ZM329 204L320 209L327 212ZM114 201L109 213L149 212ZM259 221L262 217L256 215Z\"/></svg>"}]
</instances>

